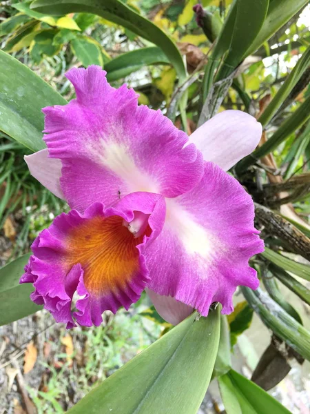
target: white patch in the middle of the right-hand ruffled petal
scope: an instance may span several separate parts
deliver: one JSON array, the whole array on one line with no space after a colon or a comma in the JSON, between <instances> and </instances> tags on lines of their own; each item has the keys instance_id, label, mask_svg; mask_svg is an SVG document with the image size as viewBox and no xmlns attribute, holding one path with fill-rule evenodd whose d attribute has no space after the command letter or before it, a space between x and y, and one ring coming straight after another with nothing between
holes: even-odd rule
<instances>
[{"instance_id":1,"label":"white patch in the middle of the right-hand ruffled petal","mask_svg":"<svg viewBox=\"0 0 310 414\"><path fill-rule=\"evenodd\" d=\"M166 223L182 242L189 255L197 253L203 259L211 259L214 250L214 236L198 224L174 199L166 199Z\"/></svg>"}]
</instances>

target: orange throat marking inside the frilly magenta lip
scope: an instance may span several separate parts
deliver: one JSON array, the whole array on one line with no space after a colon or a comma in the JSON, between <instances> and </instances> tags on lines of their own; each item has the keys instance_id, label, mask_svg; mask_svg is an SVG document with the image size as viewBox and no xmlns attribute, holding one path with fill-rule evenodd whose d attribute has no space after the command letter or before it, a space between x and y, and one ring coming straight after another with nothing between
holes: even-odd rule
<instances>
[{"instance_id":1,"label":"orange throat marking inside the frilly magenta lip","mask_svg":"<svg viewBox=\"0 0 310 414\"><path fill-rule=\"evenodd\" d=\"M84 284L93 295L123 290L139 270L136 246L143 236L134 235L123 226L119 216L93 217L72 229L66 240L68 268L81 264Z\"/></svg>"}]
</instances>

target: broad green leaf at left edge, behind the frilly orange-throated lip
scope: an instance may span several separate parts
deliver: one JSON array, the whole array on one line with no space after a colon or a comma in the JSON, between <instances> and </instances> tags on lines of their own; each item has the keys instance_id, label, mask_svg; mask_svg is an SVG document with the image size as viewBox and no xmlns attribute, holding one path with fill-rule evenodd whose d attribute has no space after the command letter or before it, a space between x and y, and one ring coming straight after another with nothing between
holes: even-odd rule
<instances>
[{"instance_id":1,"label":"broad green leaf at left edge, behind the frilly orange-throated lip","mask_svg":"<svg viewBox=\"0 0 310 414\"><path fill-rule=\"evenodd\" d=\"M29 254L21 256L0 269L0 326L32 315L42 308L30 300L33 286L19 284L29 257Z\"/></svg>"}]
</instances>

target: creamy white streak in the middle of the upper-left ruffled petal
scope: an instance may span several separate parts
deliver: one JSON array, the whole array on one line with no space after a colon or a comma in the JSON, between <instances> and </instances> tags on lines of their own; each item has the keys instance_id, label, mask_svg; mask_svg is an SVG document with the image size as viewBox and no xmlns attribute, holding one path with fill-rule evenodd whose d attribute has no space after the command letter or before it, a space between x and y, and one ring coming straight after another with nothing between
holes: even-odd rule
<instances>
[{"instance_id":1,"label":"creamy white streak in the middle of the upper-left ruffled petal","mask_svg":"<svg viewBox=\"0 0 310 414\"><path fill-rule=\"evenodd\" d=\"M125 145L118 144L115 141L101 140L96 148L87 146L87 151L92 153L98 164L109 168L122 181L125 181L130 193L135 191L158 193L159 186L156 185L152 177L149 177L147 173L136 166L134 159L130 156L130 151Z\"/></svg>"}]
</instances>

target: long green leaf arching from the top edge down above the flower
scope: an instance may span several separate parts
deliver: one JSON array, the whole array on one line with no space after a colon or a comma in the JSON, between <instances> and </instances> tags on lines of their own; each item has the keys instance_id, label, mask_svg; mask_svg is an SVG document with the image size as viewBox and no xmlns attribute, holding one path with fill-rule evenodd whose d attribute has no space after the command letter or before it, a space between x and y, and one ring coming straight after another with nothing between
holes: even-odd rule
<instances>
[{"instance_id":1,"label":"long green leaf arching from the top edge down above the flower","mask_svg":"<svg viewBox=\"0 0 310 414\"><path fill-rule=\"evenodd\" d=\"M46 14L86 12L98 14L155 43L176 68L180 81L186 77L183 59L174 41L154 23L145 19L120 0L35 0L32 10Z\"/></svg>"}]
</instances>

